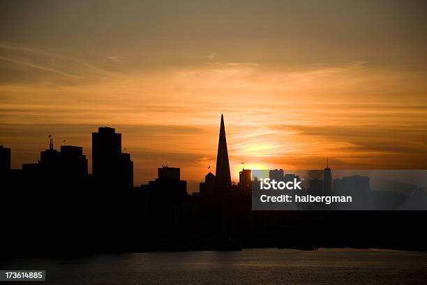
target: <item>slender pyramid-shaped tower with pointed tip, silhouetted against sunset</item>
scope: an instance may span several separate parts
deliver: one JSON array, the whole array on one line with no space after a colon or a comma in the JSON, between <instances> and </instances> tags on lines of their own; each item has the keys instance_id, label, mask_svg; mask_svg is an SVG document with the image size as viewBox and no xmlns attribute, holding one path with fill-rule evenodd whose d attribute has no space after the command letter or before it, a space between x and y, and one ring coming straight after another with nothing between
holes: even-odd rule
<instances>
[{"instance_id":1,"label":"slender pyramid-shaped tower with pointed tip, silhouetted against sunset","mask_svg":"<svg viewBox=\"0 0 427 285\"><path fill-rule=\"evenodd\" d=\"M216 156L215 191L230 191L231 189L230 163L228 162L224 117L221 115L218 155Z\"/></svg>"}]
</instances>

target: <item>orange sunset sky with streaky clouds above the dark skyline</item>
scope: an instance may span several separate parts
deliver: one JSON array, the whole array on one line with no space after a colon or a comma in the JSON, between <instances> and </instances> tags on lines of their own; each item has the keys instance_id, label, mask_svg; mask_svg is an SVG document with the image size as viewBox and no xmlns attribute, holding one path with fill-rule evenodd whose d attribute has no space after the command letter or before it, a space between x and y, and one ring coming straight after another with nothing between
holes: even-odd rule
<instances>
[{"instance_id":1,"label":"orange sunset sky with streaky clouds above the dark skyline","mask_svg":"<svg viewBox=\"0 0 427 285\"><path fill-rule=\"evenodd\" d=\"M112 126L135 185L215 168L425 169L426 1L0 1L12 167ZM214 173L214 171L213 171Z\"/></svg>"}]
</instances>

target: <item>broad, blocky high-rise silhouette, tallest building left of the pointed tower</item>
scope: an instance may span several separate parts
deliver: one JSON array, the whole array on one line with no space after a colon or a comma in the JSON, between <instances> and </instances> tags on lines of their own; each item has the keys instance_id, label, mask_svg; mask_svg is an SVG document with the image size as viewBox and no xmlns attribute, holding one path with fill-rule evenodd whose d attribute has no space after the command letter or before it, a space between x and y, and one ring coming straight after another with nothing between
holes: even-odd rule
<instances>
[{"instance_id":1,"label":"broad, blocky high-rise silhouette, tallest building left of the pointed tower","mask_svg":"<svg viewBox=\"0 0 427 285\"><path fill-rule=\"evenodd\" d=\"M121 133L110 127L92 133L93 177L109 187L133 187L133 161L121 152Z\"/></svg>"}]
</instances>

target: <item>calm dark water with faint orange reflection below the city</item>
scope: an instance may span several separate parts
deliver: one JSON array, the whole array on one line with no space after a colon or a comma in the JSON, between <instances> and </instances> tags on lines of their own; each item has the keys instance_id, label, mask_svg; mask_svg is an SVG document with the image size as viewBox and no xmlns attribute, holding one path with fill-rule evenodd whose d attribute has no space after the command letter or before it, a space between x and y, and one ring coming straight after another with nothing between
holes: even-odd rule
<instances>
[{"instance_id":1,"label":"calm dark water with faint orange reflection below the city","mask_svg":"<svg viewBox=\"0 0 427 285\"><path fill-rule=\"evenodd\" d=\"M47 282L43 284L61 285L427 284L426 253L377 249L246 249L25 258L2 261L1 269L11 269L10 265L15 269L45 269Z\"/></svg>"}]
</instances>

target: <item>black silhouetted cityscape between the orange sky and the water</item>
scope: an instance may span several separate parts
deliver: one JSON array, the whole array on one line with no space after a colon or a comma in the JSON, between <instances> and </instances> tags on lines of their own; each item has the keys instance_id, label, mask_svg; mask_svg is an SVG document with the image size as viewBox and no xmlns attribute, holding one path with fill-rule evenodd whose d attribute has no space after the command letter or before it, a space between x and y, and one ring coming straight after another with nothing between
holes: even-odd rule
<instances>
[{"instance_id":1,"label":"black silhouetted cityscape between the orange sky and the water","mask_svg":"<svg viewBox=\"0 0 427 285\"><path fill-rule=\"evenodd\" d=\"M242 247L384 247L427 249L425 212L253 211L251 170L232 184L223 115L216 174L200 191L187 192L180 168L161 166L158 177L135 187L133 161L122 152L121 133L103 126L92 133L92 174L82 147L48 149L37 163L10 168L10 148L0 147L3 211L10 217L6 254L78 254ZM300 180L276 169L277 181ZM369 193L369 177L310 177L313 195ZM350 192L349 192L350 191ZM373 208L366 208L373 210ZM414 219L417 217L417 219ZM12 222L13 221L13 222ZM19 247L16 245L19 244ZM15 245L15 246L14 246Z\"/></svg>"}]
</instances>

